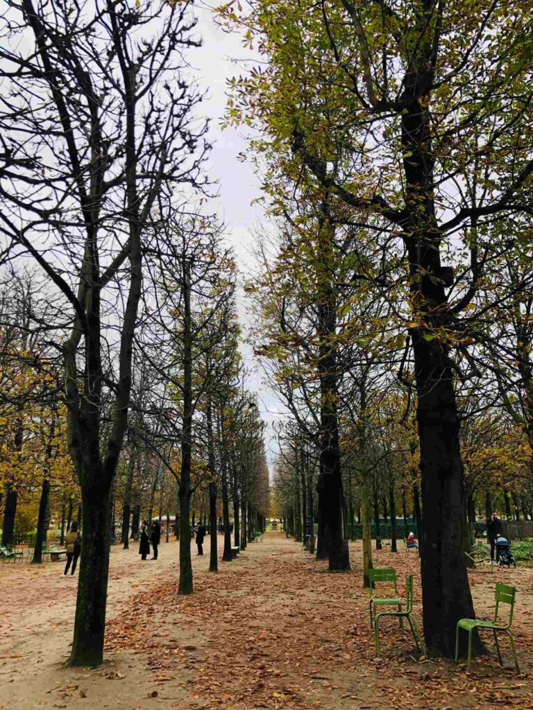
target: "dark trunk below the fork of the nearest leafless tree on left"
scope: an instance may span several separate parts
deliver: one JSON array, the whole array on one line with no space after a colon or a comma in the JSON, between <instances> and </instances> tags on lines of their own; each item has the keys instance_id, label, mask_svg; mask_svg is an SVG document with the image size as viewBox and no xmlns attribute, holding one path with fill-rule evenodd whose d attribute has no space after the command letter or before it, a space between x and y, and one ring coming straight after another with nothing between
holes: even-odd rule
<instances>
[{"instance_id":1,"label":"dark trunk below the fork of the nearest leafless tree on left","mask_svg":"<svg viewBox=\"0 0 533 710\"><path fill-rule=\"evenodd\" d=\"M102 663L104 654L109 573L109 487L101 484L87 488L83 499L80 579L77 585L74 640L69 664L95 666Z\"/></svg>"}]
</instances>

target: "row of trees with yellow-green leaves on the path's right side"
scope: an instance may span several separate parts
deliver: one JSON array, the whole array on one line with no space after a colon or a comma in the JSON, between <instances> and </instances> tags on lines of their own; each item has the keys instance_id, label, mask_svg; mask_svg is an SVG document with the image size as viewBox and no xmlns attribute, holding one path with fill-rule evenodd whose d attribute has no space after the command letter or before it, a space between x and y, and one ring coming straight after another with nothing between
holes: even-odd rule
<instances>
[{"instance_id":1,"label":"row of trees with yellow-green leaves on the path's right side","mask_svg":"<svg viewBox=\"0 0 533 710\"><path fill-rule=\"evenodd\" d=\"M463 548L480 471L518 476L509 489L531 507L531 9L220 8L262 58L230 81L227 121L254 128L277 233L250 287L256 347L316 451L318 554L322 536L330 569L349 569L341 457L353 456L372 564L372 457L392 466L407 449L426 645L445 655L474 613ZM473 444L484 431L502 442L490 466Z\"/></svg>"}]
</instances>

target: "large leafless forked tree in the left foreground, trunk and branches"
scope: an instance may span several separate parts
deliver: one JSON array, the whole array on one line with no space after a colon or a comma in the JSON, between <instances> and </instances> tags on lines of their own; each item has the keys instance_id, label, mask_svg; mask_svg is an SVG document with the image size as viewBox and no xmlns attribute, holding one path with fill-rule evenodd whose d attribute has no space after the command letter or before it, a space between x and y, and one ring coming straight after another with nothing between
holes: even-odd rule
<instances>
[{"instance_id":1,"label":"large leafless forked tree in the left foreground, trunk and branches","mask_svg":"<svg viewBox=\"0 0 533 710\"><path fill-rule=\"evenodd\" d=\"M199 44L191 6L4 0L1 253L17 264L32 258L57 290L55 320L44 325L63 359L82 489L71 665L102 662L109 498L146 232L156 202L161 214L178 183L198 185L208 149L193 117L201 96L183 74L183 52Z\"/></svg>"}]
</instances>

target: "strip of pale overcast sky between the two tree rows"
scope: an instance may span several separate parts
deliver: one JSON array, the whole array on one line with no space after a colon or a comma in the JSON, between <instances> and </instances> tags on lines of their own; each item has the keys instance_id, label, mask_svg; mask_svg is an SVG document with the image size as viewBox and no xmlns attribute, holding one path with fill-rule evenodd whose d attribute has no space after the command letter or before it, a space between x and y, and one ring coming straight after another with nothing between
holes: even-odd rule
<instances>
[{"instance_id":1,"label":"strip of pale overcast sky between the two tree rows","mask_svg":"<svg viewBox=\"0 0 533 710\"><path fill-rule=\"evenodd\" d=\"M241 70L235 60L251 60L252 55L242 47L237 33L228 34L215 24L208 9L198 9L199 30L203 37L203 48L192 50L190 62L198 72L198 81L208 89L208 101L203 111L211 119L213 148L210 159L210 178L219 182L217 209L227 225L227 240L235 250L239 270L244 278L253 266L252 248L254 228L264 222L264 214L252 201L259 196L260 182L249 164L239 160L238 155L247 151L244 129L225 129L220 122L225 110L227 79L238 75ZM244 66L243 66L244 69ZM247 327L247 303L242 290L239 291L239 316L244 329ZM262 373L254 362L249 347L242 348L247 368L252 369L247 386L257 392L259 409L263 419L271 422L279 417L283 407L269 388L262 382ZM271 440L271 427L266 432L269 459L276 447Z\"/></svg>"}]
</instances>

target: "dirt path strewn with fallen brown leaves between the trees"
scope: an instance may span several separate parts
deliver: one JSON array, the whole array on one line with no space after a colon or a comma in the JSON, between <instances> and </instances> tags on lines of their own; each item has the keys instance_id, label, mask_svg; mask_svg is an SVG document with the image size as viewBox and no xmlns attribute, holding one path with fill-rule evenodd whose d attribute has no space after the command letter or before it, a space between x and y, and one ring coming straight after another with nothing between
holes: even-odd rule
<instances>
[{"instance_id":1,"label":"dirt path strewn with fallen brown leaves between the trees","mask_svg":"<svg viewBox=\"0 0 533 710\"><path fill-rule=\"evenodd\" d=\"M158 562L114 550L108 660L98 670L61 665L75 582L60 578L57 564L2 565L0 708L533 709L533 569L472 574L485 618L495 581L517 584L513 628L522 675L500 670L493 657L466 674L448 662L419 662L396 623L384 623L382 658L375 659L360 544L351 547L352 574L329 574L275 532L221 564L217 575L207 572L207 556L194 556L195 594L188 597L176 596L176 543L162 545ZM396 567L400 579L415 575L419 612L418 559L378 552L376 565Z\"/></svg>"}]
</instances>

